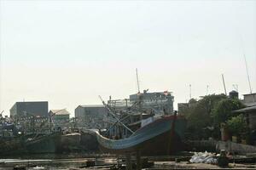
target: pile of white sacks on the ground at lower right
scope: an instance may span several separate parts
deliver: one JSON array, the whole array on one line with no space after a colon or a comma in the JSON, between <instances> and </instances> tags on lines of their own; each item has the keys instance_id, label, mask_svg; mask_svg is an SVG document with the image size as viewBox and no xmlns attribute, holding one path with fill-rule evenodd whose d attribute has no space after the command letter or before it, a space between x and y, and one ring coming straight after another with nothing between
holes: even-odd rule
<instances>
[{"instance_id":1,"label":"pile of white sacks on the ground at lower right","mask_svg":"<svg viewBox=\"0 0 256 170\"><path fill-rule=\"evenodd\" d=\"M194 156L189 160L191 163L208 163L208 164L216 164L217 158L215 154L206 152L195 152Z\"/></svg>"}]
</instances>

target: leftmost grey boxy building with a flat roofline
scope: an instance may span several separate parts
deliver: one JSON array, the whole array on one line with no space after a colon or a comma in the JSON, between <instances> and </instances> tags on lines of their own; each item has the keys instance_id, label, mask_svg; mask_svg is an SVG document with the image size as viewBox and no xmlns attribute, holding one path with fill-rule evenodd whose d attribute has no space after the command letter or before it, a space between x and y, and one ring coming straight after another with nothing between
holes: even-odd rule
<instances>
[{"instance_id":1,"label":"leftmost grey boxy building with a flat roofline","mask_svg":"<svg viewBox=\"0 0 256 170\"><path fill-rule=\"evenodd\" d=\"M16 102L9 110L10 116L48 116L48 101Z\"/></svg>"}]
</instances>

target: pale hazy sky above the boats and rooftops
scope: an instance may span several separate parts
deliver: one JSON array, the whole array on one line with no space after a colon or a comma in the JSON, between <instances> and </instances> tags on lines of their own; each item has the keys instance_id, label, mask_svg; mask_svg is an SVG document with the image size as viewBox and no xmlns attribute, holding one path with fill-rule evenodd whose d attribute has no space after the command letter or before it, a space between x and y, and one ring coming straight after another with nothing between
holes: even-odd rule
<instances>
[{"instance_id":1,"label":"pale hazy sky above the boats and rooftops","mask_svg":"<svg viewBox=\"0 0 256 170\"><path fill-rule=\"evenodd\" d=\"M141 91L256 93L256 1L0 0L0 111L102 104ZM208 90L207 90L208 86ZM240 95L241 99L242 96Z\"/></svg>"}]
</instances>

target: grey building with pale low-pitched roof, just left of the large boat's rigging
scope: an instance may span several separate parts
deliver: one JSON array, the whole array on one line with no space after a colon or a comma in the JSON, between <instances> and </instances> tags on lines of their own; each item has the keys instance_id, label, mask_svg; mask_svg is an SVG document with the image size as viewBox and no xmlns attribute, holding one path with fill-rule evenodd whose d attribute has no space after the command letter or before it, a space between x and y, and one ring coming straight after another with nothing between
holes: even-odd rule
<instances>
[{"instance_id":1,"label":"grey building with pale low-pitched roof, just left of the large boat's rigging","mask_svg":"<svg viewBox=\"0 0 256 170\"><path fill-rule=\"evenodd\" d=\"M106 128L108 110L104 105L79 105L75 109L75 117L79 127Z\"/></svg>"}]
</instances>

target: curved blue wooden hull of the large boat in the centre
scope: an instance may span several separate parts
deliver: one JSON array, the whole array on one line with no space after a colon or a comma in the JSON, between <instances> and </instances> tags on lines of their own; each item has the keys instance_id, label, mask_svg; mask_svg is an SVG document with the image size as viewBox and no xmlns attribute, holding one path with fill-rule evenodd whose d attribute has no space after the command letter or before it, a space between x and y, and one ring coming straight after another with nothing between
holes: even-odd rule
<instances>
[{"instance_id":1,"label":"curved blue wooden hull of the large boat in the centre","mask_svg":"<svg viewBox=\"0 0 256 170\"><path fill-rule=\"evenodd\" d=\"M95 131L103 151L124 154L140 150L143 155L170 155L183 147L185 129L183 116L162 116L139 128L129 138L107 139Z\"/></svg>"}]
</instances>

